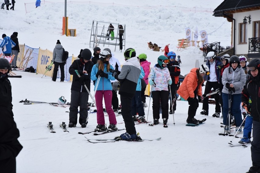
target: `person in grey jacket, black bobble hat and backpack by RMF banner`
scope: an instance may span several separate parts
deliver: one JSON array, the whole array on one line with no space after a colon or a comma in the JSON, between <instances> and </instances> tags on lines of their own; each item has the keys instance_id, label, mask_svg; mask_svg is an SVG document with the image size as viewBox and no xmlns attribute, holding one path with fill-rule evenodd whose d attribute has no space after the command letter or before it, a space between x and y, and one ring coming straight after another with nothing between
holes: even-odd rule
<instances>
[{"instance_id":1,"label":"person in grey jacket, black bobble hat and backpack by RMF banner","mask_svg":"<svg viewBox=\"0 0 260 173\"><path fill-rule=\"evenodd\" d=\"M62 45L60 44L60 40L57 40L56 46L53 49L52 62L54 64L54 69L53 69L52 81L56 81L58 70L59 70L59 67L60 67L60 82L64 82L65 62L63 62L63 59L62 59L63 53L64 53L64 49L63 49Z\"/></svg>"}]
</instances>

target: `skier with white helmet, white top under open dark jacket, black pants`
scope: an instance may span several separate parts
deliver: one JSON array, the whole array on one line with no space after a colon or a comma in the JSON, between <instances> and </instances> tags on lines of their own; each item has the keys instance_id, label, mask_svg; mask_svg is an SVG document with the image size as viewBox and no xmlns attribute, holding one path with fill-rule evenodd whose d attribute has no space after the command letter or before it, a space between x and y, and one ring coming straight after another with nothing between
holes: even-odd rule
<instances>
[{"instance_id":1,"label":"skier with white helmet, white top under open dark jacket, black pants","mask_svg":"<svg viewBox=\"0 0 260 173\"><path fill-rule=\"evenodd\" d=\"M204 76L204 79L206 79L206 81L207 81L204 94L209 94L211 91L211 88L213 88L214 91L219 89L219 77L220 77L222 62L221 62L220 58L216 57L216 55L213 51L208 52L206 58L207 58L206 65L208 66L208 68L210 70L210 74L209 74L209 76L208 75ZM214 98L216 101L216 104L215 104L216 106L215 106L215 113L212 115L212 117L219 118L219 115L221 112L221 107L219 105L219 95L215 94ZM202 109L203 109L203 111L201 111L200 114L208 116L208 97L205 97L203 99Z\"/></svg>"}]
</instances>

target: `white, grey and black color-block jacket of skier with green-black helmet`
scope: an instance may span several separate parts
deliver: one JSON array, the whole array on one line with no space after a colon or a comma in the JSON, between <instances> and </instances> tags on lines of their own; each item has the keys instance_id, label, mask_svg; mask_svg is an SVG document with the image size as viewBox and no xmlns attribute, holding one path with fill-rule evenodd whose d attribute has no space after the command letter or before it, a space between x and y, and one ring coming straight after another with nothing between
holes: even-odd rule
<instances>
[{"instance_id":1,"label":"white, grey and black color-block jacket of skier with green-black helmet","mask_svg":"<svg viewBox=\"0 0 260 173\"><path fill-rule=\"evenodd\" d=\"M140 73L141 67L137 57L126 60L121 73L115 75L115 78L120 82L118 94L126 97L134 97Z\"/></svg>"}]
</instances>

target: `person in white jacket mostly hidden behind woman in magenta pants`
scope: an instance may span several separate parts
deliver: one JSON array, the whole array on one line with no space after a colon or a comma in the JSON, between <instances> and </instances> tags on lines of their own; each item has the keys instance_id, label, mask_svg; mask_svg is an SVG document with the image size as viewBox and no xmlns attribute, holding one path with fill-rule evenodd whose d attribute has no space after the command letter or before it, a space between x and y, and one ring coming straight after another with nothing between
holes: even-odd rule
<instances>
[{"instance_id":1,"label":"person in white jacket mostly hidden behind woman in magenta pants","mask_svg":"<svg viewBox=\"0 0 260 173\"><path fill-rule=\"evenodd\" d=\"M112 65L114 70L117 71L121 71L121 64L119 62L119 60L117 58L115 58L115 55L111 53L109 48L105 48L104 51L108 51L112 57L109 59L109 64ZM110 80L111 85L113 86L114 82L117 82L117 79L115 80ZM112 107L113 107L113 111L118 111L119 109L121 109L119 107L119 103L118 103L118 97L117 97L117 91L112 90Z\"/></svg>"}]
</instances>

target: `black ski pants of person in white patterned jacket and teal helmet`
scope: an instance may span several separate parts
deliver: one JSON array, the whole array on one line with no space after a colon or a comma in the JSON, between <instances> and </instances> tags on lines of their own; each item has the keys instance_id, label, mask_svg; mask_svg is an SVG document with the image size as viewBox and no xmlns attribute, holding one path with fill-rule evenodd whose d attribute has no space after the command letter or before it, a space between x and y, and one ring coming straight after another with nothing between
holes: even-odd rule
<instances>
[{"instance_id":1,"label":"black ski pants of person in white patterned jacket and teal helmet","mask_svg":"<svg viewBox=\"0 0 260 173\"><path fill-rule=\"evenodd\" d=\"M160 118L160 101L161 101L161 109L162 109L162 119L169 118L169 92L162 90L162 91L152 91L153 96L153 119Z\"/></svg>"}]
</instances>

